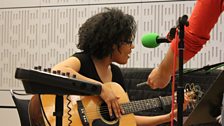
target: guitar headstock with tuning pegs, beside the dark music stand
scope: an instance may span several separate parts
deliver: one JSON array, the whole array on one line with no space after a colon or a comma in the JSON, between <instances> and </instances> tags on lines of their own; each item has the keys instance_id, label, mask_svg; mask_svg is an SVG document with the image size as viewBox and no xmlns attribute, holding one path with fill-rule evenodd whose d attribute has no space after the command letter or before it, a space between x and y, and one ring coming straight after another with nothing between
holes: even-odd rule
<instances>
[{"instance_id":1,"label":"guitar headstock with tuning pegs, beside the dark music stand","mask_svg":"<svg viewBox=\"0 0 224 126\"><path fill-rule=\"evenodd\" d=\"M201 87L199 85L195 85L194 83L187 83L184 90L185 94L189 98L188 107L194 109L204 94L201 91Z\"/></svg>"}]
</instances>

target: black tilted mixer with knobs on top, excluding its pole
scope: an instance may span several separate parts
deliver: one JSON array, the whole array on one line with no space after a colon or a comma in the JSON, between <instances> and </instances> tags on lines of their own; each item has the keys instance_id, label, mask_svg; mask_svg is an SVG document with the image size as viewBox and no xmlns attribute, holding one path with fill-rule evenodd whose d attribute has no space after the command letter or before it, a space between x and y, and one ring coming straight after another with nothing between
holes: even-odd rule
<instances>
[{"instance_id":1,"label":"black tilted mixer with knobs on top, excluding its pole","mask_svg":"<svg viewBox=\"0 0 224 126\"><path fill-rule=\"evenodd\" d=\"M23 82L27 93L58 95L99 95L101 85L77 79L70 73L50 68L17 68L15 78Z\"/></svg>"}]
</instances>

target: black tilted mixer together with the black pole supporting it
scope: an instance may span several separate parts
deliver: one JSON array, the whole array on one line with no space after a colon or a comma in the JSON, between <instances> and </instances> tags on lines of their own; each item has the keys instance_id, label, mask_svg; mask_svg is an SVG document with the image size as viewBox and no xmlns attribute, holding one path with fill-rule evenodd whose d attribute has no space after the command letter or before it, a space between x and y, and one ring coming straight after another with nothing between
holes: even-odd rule
<instances>
[{"instance_id":1,"label":"black tilted mixer together with the black pole supporting it","mask_svg":"<svg viewBox=\"0 0 224 126\"><path fill-rule=\"evenodd\" d=\"M62 126L63 95L99 95L102 87L65 75L52 74L47 71L17 68L15 78L23 82L26 93L55 94L56 126Z\"/></svg>"}]
</instances>

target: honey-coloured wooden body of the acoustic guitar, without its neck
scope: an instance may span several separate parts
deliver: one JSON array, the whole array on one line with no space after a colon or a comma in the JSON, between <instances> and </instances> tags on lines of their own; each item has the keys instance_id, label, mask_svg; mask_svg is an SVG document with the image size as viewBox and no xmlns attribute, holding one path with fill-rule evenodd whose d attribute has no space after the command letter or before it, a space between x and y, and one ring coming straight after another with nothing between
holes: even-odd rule
<instances>
[{"instance_id":1,"label":"honey-coloured wooden body of the acoustic guitar, without its neck","mask_svg":"<svg viewBox=\"0 0 224 126\"><path fill-rule=\"evenodd\" d=\"M107 87L110 87L119 98L119 103L129 102L127 94L124 92L123 88L114 82L105 83ZM81 99L83 105L81 114L79 112L78 104L71 102L69 108L67 104L69 100L64 98L64 113L63 113L63 126L83 126L82 120L86 119L89 126L136 126L136 121L134 114L122 115L121 118L117 119L115 116L113 118L109 117L108 109L105 102L99 96L84 96ZM47 116L48 121L51 126L56 126L56 117L53 116L55 112L55 95L41 95L42 105L44 112ZM68 114L68 111L69 114ZM71 117L69 118L69 116ZM69 119L71 121L69 121ZM46 122L46 121L45 121Z\"/></svg>"}]
</instances>

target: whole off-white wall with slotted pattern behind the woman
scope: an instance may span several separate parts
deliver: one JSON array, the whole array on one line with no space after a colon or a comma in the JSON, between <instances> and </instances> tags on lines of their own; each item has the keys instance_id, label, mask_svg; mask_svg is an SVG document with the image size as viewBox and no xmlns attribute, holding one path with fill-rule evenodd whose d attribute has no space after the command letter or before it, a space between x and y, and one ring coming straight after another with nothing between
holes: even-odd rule
<instances>
[{"instance_id":1,"label":"whole off-white wall with slotted pattern behind the woman","mask_svg":"<svg viewBox=\"0 0 224 126\"><path fill-rule=\"evenodd\" d=\"M132 14L138 23L135 50L128 64L122 67L157 66L169 44L144 48L140 41L142 34L156 32L165 36L176 25L178 17L190 16L195 1L0 0L0 3L0 89L23 89L21 81L14 78L16 68L52 67L66 59L77 51L79 26L103 7L118 7ZM199 68L224 61L223 27L222 15L210 42L185 67ZM0 96L11 98L5 94ZM0 104L3 103L5 101L0 100ZM10 100L8 103L13 105ZM0 118L0 122L19 125L15 112L0 111L0 117L13 115L13 121Z\"/></svg>"}]
</instances>

